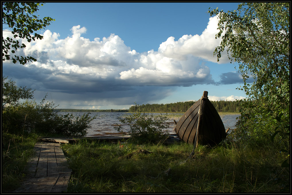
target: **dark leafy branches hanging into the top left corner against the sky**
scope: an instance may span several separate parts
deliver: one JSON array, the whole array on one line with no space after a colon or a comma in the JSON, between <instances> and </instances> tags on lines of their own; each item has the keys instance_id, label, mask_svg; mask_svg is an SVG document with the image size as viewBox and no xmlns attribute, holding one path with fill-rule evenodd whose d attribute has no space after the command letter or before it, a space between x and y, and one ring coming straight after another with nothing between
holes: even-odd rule
<instances>
[{"instance_id":1,"label":"dark leafy branches hanging into the top left corner against the sky","mask_svg":"<svg viewBox=\"0 0 292 195\"><path fill-rule=\"evenodd\" d=\"M45 17L42 20L38 18L36 11L39 6L43 6L40 3L4 3L2 2L2 31L9 31L13 35L13 38L2 36L2 60L12 60L13 63L17 61L24 65L27 62L35 62L36 59L31 56L11 56L11 53L16 53L19 48L25 48L24 43L20 43L17 37L20 39L26 39L28 42L36 39L43 39L40 34L32 33L34 31L44 29L51 24L51 21L55 21L50 17ZM5 27L6 26L6 27Z\"/></svg>"}]
</instances>

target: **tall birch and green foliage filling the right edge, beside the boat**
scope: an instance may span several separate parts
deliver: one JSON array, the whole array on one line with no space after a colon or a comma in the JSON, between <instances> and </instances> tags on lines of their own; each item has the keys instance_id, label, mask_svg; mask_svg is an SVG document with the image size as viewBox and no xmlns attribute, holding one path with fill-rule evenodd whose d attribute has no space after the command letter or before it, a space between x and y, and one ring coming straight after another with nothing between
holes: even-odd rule
<instances>
[{"instance_id":1,"label":"tall birch and green foliage filling the right edge, beside the boat","mask_svg":"<svg viewBox=\"0 0 292 195\"><path fill-rule=\"evenodd\" d=\"M218 15L222 38L214 54L227 50L237 62L248 95L243 101L237 130L241 138L267 144L271 137L290 151L290 4L243 3L234 11L208 11ZM254 82L246 80L253 77ZM281 116L281 122L275 120ZM281 132L275 134L275 130Z\"/></svg>"}]
</instances>

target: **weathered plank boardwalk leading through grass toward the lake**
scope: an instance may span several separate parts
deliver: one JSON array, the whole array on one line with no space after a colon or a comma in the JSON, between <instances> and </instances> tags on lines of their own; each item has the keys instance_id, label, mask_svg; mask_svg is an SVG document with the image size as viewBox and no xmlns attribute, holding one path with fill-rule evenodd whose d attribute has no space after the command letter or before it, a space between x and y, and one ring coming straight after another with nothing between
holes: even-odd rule
<instances>
[{"instance_id":1,"label":"weathered plank boardwalk leading through grass toward the lake","mask_svg":"<svg viewBox=\"0 0 292 195\"><path fill-rule=\"evenodd\" d=\"M38 142L29 162L27 180L15 192L58 193L67 191L72 170L68 168L60 143Z\"/></svg>"}]
</instances>

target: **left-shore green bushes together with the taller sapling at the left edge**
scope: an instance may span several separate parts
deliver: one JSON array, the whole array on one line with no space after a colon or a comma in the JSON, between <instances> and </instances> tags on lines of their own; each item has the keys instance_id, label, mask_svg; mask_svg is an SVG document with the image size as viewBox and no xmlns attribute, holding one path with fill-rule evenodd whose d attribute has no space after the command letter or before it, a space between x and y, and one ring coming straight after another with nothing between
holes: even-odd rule
<instances>
[{"instance_id":1,"label":"left-shore green bushes together with the taller sapling at the left edge","mask_svg":"<svg viewBox=\"0 0 292 195\"><path fill-rule=\"evenodd\" d=\"M4 77L3 77L4 78ZM2 80L2 132L41 133L44 135L85 136L95 118L90 113L75 118L72 114L61 115L55 112L53 102L45 102L46 96L37 104L32 98L31 89L17 87L15 82ZM27 99L19 103L20 99Z\"/></svg>"}]
</instances>

